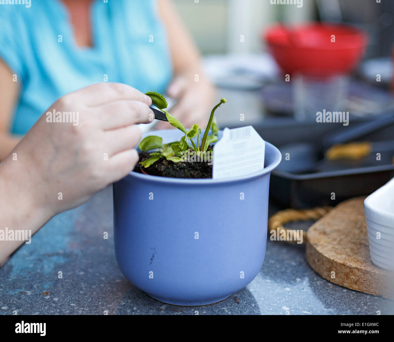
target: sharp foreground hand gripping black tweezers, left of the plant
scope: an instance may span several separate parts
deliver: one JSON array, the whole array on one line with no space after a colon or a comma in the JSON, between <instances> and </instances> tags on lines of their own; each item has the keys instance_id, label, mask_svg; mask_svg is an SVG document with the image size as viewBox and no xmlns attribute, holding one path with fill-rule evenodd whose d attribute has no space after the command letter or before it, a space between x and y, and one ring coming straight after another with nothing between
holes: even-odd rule
<instances>
[{"instance_id":1,"label":"sharp foreground hand gripping black tweezers, left of the plant","mask_svg":"<svg viewBox=\"0 0 394 342\"><path fill-rule=\"evenodd\" d=\"M153 120L150 105L143 93L116 83L57 100L0 164L2 175L15 180L11 193L31 196L29 206L53 216L125 177L139 160L136 124ZM72 112L74 122L48 122L53 112Z\"/></svg>"}]
</instances>

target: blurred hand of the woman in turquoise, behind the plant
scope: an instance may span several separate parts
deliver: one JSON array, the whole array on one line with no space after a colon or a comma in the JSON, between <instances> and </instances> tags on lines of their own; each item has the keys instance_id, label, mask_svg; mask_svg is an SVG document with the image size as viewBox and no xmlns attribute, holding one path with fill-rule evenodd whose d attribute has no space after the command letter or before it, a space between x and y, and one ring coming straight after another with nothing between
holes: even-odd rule
<instances>
[{"instance_id":1,"label":"blurred hand of the woman in turquoise, behind the plant","mask_svg":"<svg viewBox=\"0 0 394 342\"><path fill-rule=\"evenodd\" d=\"M197 124L205 129L212 110L215 90L202 74L199 74L198 81L195 81L197 76L194 78L194 73L190 74L192 75L182 74L175 77L167 88L167 95L178 100L169 112L186 128ZM173 126L166 122L160 122L157 124L157 128L165 129L173 128Z\"/></svg>"}]
</instances>

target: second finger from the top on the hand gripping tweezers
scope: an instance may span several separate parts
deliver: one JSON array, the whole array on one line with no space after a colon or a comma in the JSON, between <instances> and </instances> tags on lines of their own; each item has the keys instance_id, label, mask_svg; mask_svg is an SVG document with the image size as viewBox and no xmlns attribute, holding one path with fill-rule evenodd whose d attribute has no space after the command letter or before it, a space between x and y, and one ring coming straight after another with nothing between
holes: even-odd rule
<instances>
[{"instance_id":1,"label":"second finger from the top on the hand gripping tweezers","mask_svg":"<svg viewBox=\"0 0 394 342\"><path fill-rule=\"evenodd\" d=\"M136 123L150 123L154 114L140 101L117 101L92 109L97 110L97 122L103 130L111 130Z\"/></svg>"}]
</instances>

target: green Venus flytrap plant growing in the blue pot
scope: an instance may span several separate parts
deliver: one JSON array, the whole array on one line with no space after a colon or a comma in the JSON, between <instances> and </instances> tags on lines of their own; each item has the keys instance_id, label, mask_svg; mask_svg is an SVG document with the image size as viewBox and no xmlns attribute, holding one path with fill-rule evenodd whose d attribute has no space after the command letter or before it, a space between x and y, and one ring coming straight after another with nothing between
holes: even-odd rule
<instances>
[{"instance_id":1,"label":"green Venus flytrap plant growing in the blue pot","mask_svg":"<svg viewBox=\"0 0 394 342\"><path fill-rule=\"evenodd\" d=\"M142 139L141 143L139 143L138 147L141 151L151 151L153 149L158 149L161 147L160 152L155 151L150 154L151 158L148 158L147 160L144 160L143 162L140 162L141 166L143 167L149 167L152 165L154 162L159 160L160 158L166 158L167 160L171 160L174 163L179 163L185 161L184 158L181 158L184 156L184 151L188 150L188 141L191 143L191 148L194 153L198 154L200 157L202 157L204 154L206 154L206 151L211 143L214 143L217 141L217 136L219 134L219 129L216 125L216 121L214 119L214 113L215 110L223 103L225 103L227 100L226 99L221 99L220 102L212 109L210 118L208 120L208 124L206 126L205 132L203 139L201 141L201 146L199 145L199 138L201 134L201 128L199 125L194 124L191 126L190 130L186 130L186 128L178 121L177 118L173 117L169 112L165 110L168 106L168 102L165 99L164 95L161 93L157 93L156 91L148 91L145 93L152 99L152 104L156 106L158 109L160 109L162 112L165 113L165 116L167 117L168 122L178 128L180 131L182 131L185 135L182 136L180 141L174 141L172 143L168 143L166 145L162 146L162 138L158 136L147 136L144 139ZM212 134L208 136L208 132L212 126ZM196 139L197 138L197 139ZM194 141L194 139L197 140L197 145Z\"/></svg>"}]
</instances>

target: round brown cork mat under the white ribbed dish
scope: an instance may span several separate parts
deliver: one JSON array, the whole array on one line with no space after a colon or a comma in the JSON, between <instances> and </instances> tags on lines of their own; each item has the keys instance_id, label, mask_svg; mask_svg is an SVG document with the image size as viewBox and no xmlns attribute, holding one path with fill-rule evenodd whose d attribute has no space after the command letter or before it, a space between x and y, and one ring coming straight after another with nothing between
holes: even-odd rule
<instances>
[{"instance_id":1,"label":"round brown cork mat under the white ribbed dish","mask_svg":"<svg viewBox=\"0 0 394 342\"><path fill-rule=\"evenodd\" d=\"M393 273L370 260L364 199L338 204L308 229L307 261L331 283L394 299Z\"/></svg>"}]
</instances>

